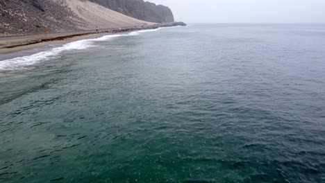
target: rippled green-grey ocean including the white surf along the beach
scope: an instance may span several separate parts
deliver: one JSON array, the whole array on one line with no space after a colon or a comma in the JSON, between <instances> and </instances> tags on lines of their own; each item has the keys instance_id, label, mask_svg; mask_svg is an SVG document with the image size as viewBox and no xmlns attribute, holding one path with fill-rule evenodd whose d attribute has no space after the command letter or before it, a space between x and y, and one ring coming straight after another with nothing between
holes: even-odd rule
<instances>
[{"instance_id":1,"label":"rippled green-grey ocean including the white surf along the beach","mask_svg":"<svg viewBox=\"0 0 325 183\"><path fill-rule=\"evenodd\" d=\"M325 182L325 25L190 24L0 61L0 182Z\"/></svg>"}]
</instances>

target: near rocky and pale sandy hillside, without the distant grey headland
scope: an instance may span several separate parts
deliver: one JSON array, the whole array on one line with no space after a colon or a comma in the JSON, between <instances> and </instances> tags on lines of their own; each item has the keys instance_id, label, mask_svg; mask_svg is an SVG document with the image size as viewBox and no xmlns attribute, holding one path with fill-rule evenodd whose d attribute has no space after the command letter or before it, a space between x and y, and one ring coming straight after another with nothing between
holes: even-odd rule
<instances>
[{"instance_id":1,"label":"near rocky and pale sandy hillside, without the distant grey headland","mask_svg":"<svg viewBox=\"0 0 325 183\"><path fill-rule=\"evenodd\" d=\"M61 33L152 24L86 0L1 0L0 35Z\"/></svg>"}]
</instances>

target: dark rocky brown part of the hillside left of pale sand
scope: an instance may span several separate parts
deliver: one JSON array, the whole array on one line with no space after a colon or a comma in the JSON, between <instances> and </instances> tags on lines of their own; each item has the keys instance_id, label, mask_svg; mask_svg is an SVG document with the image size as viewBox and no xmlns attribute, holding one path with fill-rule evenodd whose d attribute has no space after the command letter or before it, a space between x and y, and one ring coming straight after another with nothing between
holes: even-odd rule
<instances>
[{"instance_id":1,"label":"dark rocky brown part of the hillside left of pale sand","mask_svg":"<svg viewBox=\"0 0 325 183\"><path fill-rule=\"evenodd\" d=\"M0 34L77 30L81 21L60 0L0 1Z\"/></svg>"}]
</instances>

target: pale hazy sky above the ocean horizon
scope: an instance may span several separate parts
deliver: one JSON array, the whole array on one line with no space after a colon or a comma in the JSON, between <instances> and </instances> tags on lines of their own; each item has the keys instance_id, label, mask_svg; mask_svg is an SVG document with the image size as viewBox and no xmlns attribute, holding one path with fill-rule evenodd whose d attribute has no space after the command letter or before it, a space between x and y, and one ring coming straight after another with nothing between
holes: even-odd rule
<instances>
[{"instance_id":1,"label":"pale hazy sky above the ocean horizon","mask_svg":"<svg viewBox=\"0 0 325 183\"><path fill-rule=\"evenodd\" d=\"M325 23L325 0L147 0L189 23Z\"/></svg>"}]
</instances>

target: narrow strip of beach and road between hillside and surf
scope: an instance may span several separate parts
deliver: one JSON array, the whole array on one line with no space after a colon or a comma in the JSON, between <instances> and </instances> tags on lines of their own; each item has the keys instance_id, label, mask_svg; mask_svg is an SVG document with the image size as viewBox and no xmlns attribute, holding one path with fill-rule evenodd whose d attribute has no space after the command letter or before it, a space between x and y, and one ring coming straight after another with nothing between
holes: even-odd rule
<instances>
[{"instance_id":1,"label":"narrow strip of beach and road between hillside and surf","mask_svg":"<svg viewBox=\"0 0 325 183\"><path fill-rule=\"evenodd\" d=\"M44 35L40 35L43 37L35 37L31 39L28 38L24 39L24 37L22 37L22 39L19 39L18 36L3 37L8 39L0 40L1 43L0 54L6 55L8 53L16 53L18 51L25 51L25 50L44 47L44 46L49 46L50 44L64 44L64 43L74 42L78 40L85 40L88 38L97 38L104 35L113 35L116 33L127 33L136 30L147 30L147 29L156 29L160 27L172 27L172 26L186 26L186 24L184 24L183 22L172 22L172 23L154 24L148 26L134 26L128 28L112 28L109 30L99 30L99 31L94 30L92 32L85 30L85 33L67 34L67 35L59 35L59 36L52 36L52 37L44 37Z\"/></svg>"}]
</instances>

